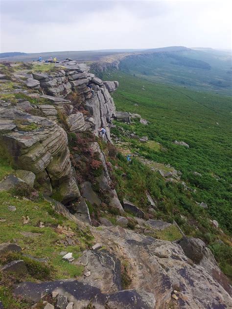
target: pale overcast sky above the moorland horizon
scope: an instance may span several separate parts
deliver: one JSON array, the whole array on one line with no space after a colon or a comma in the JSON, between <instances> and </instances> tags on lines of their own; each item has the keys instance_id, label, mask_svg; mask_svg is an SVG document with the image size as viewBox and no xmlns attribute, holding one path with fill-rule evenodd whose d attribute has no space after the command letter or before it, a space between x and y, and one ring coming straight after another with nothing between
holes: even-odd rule
<instances>
[{"instance_id":1,"label":"pale overcast sky above the moorland horizon","mask_svg":"<svg viewBox=\"0 0 232 309\"><path fill-rule=\"evenodd\" d=\"M232 0L0 0L0 52L231 49Z\"/></svg>"}]
</instances>

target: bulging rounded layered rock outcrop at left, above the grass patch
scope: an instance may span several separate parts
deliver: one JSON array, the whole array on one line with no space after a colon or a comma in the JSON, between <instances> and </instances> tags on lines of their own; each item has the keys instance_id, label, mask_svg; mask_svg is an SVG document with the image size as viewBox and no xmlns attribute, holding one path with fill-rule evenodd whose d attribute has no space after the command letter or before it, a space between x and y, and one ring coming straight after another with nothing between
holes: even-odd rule
<instances>
[{"instance_id":1,"label":"bulging rounded layered rock outcrop at left, above the grass patch","mask_svg":"<svg viewBox=\"0 0 232 309\"><path fill-rule=\"evenodd\" d=\"M14 164L38 175L46 172L51 185L68 202L80 196L71 174L70 153L66 132L54 121L33 116L14 107L0 108L0 117L28 131L12 129L0 135L0 143ZM19 123L19 125L18 125ZM21 128L21 127L20 127Z\"/></svg>"}]
</instances>

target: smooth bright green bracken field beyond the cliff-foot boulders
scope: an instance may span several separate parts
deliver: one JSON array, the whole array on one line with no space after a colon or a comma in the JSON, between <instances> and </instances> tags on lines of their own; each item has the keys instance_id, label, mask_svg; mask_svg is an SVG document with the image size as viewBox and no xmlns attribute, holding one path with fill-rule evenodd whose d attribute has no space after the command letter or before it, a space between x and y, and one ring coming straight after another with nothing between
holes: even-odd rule
<instances>
[{"instance_id":1,"label":"smooth bright green bracken field beyond the cliff-foot boulders","mask_svg":"<svg viewBox=\"0 0 232 309\"><path fill-rule=\"evenodd\" d=\"M156 85L122 72L105 78L119 81L114 94L117 110L140 113L151 122L149 126L138 124L133 131L166 148L165 152L151 151L147 158L182 171L183 179L197 188L194 198L208 203L213 219L231 230L231 99ZM174 145L175 139L185 141L190 148ZM194 176L191 171L203 176Z\"/></svg>"}]
</instances>

